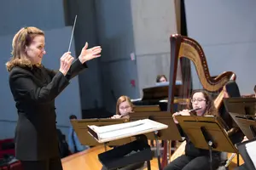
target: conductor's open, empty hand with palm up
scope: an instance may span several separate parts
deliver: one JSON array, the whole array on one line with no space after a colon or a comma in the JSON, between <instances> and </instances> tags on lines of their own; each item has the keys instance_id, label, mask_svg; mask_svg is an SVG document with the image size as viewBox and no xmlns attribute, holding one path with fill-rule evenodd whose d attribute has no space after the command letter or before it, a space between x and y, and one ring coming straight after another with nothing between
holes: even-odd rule
<instances>
[{"instance_id":1,"label":"conductor's open, empty hand with palm up","mask_svg":"<svg viewBox=\"0 0 256 170\"><path fill-rule=\"evenodd\" d=\"M84 62L89 61L90 59L95 59L101 56L102 48L101 46L96 46L93 48L88 48L88 43L86 42L84 48L81 50L81 54L79 55L79 60L82 64Z\"/></svg>"}]
</instances>

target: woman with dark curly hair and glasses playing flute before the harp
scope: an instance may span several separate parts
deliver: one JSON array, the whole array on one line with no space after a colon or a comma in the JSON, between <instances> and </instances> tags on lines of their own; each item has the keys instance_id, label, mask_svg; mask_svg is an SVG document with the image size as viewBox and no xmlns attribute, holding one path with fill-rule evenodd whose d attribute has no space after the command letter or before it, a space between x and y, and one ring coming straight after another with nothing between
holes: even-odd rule
<instances>
[{"instance_id":1,"label":"woman with dark curly hair and glasses playing flute before the harp","mask_svg":"<svg viewBox=\"0 0 256 170\"><path fill-rule=\"evenodd\" d=\"M218 116L218 111L213 105L212 99L209 94L203 90L197 90L192 95L189 109L200 110L195 111L197 116ZM175 116L190 116L189 110L179 111L173 114L174 122L178 122ZM178 126L179 127L179 126ZM181 133L183 133L181 127L179 127ZM189 140L185 133L183 133L186 139L185 155L177 157L174 161L169 163L164 170L206 170L210 169L209 164L209 150L202 150L195 147L195 145ZM212 151L212 169L217 169L220 161L220 152Z\"/></svg>"}]
</instances>

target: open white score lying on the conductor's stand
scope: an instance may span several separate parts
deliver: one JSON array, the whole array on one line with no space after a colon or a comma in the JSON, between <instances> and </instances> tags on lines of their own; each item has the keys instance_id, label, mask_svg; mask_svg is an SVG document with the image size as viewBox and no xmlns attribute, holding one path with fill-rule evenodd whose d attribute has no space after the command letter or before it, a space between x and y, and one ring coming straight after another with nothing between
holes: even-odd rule
<instances>
[{"instance_id":1,"label":"open white score lying on the conductor's stand","mask_svg":"<svg viewBox=\"0 0 256 170\"><path fill-rule=\"evenodd\" d=\"M165 129L168 126L160 122L143 119L135 122L125 122L104 127L95 125L88 126L98 135L98 142L108 142L115 139L123 139L143 133L150 133L156 130Z\"/></svg>"}]
</instances>

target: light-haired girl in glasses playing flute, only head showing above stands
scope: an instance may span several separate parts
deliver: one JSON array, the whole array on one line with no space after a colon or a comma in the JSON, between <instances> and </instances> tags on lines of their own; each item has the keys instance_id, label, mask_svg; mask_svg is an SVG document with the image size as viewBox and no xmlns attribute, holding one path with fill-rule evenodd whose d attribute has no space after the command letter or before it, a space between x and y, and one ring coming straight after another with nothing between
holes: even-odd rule
<instances>
[{"instance_id":1,"label":"light-haired girl in glasses playing flute, only head showing above stands","mask_svg":"<svg viewBox=\"0 0 256 170\"><path fill-rule=\"evenodd\" d=\"M131 99L128 96L121 96L116 102L116 114L112 116L112 119L127 118L129 119L129 114L133 111L133 105Z\"/></svg>"}]
</instances>

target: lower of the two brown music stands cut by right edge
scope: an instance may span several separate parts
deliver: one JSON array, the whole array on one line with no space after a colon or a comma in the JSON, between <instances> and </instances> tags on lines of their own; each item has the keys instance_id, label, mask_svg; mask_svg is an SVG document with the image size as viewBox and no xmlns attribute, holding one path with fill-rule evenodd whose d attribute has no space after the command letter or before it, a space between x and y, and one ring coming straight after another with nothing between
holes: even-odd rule
<instances>
[{"instance_id":1,"label":"lower of the two brown music stands cut by right edge","mask_svg":"<svg viewBox=\"0 0 256 170\"><path fill-rule=\"evenodd\" d=\"M256 138L256 116L254 115L241 115L238 113L231 113L230 116L234 119L241 132L247 136L247 139Z\"/></svg>"}]
</instances>

